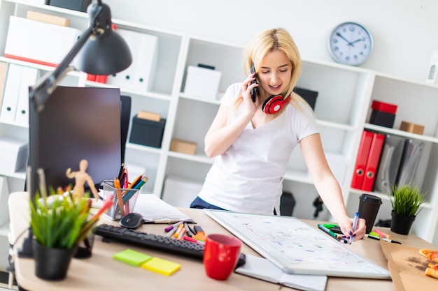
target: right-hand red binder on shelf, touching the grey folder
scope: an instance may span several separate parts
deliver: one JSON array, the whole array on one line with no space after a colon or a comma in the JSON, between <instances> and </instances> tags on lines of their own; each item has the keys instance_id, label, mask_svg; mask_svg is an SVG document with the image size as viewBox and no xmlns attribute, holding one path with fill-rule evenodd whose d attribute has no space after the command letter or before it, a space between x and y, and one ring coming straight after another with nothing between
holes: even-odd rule
<instances>
[{"instance_id":1,"label":"right-hand red binder on shelf, touching the grey folder","mask_svg":"<svg viewBox=\"0 0 438 291\"><path fill-rule=\"evenodd\" d=\"M372 191L374 180L376 179L377 168L379 167L380 156L385 142L385 135L382 133L374 133L369 149L367 166L365 167L365 176L362 182L363 191Z\"/></svg>"}]
</instances>

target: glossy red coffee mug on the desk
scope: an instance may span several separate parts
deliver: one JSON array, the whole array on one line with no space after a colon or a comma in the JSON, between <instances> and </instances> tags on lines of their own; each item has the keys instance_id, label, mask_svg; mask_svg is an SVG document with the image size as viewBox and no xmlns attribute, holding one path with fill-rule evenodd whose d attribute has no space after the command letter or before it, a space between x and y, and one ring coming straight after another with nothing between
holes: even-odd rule
<instances>
[{"instance_id":1,"label":"glossy red coffee mug on the desk","mask_svg":"<svg viewBox=\"0 0 438 291\"><path fill-rule=\"evenodd\" d=\"M209 234L204 247L204 269L210 278L227 280L239 260L241 240L226 234Z\"/></svg>"}]
</instances>

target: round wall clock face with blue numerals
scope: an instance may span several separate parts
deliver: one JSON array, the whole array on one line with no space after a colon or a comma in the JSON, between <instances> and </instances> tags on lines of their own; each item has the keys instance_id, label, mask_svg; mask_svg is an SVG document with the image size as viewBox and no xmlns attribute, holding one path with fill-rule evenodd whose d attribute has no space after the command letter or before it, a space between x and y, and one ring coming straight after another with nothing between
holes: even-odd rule
<instances>
[{"instance_id":1,"label":"round wall clock face with blue numerals","mask_svg":"<svg viewBox=\"0 0 438 291\"><path fill-rule=\"evenodd\" d=\"M328 48L334 61L356 66L372 53L373 40L367 29L360 24L345 22L330 34Z\"/></svg>"}]
</instances>

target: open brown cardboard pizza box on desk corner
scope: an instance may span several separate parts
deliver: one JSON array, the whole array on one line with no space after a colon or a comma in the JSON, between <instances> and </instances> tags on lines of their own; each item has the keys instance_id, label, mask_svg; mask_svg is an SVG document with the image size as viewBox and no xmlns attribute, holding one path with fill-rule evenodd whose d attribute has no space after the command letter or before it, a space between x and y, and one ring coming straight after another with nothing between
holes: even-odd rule
<instances>
[{"instance_id":1,"label":"open brown cardboard pizza box on desk corner","mask_svg":"<svg viewBox=\"0 0 438 291\"><path fill-rule=\"evenodd\" d=\"M420 248L382 240L380 244L397 291L437 290L438 279L424 274L432 261L418 253Z\"/></svg>"}]
</instances>

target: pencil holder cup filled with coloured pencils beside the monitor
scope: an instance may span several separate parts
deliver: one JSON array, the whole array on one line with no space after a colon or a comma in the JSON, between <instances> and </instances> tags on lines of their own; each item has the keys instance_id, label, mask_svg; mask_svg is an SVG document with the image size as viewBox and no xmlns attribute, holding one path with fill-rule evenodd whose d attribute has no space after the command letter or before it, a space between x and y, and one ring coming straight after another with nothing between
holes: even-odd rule
<instances>
[{"instance_id":1,"label":"pencil holder cup filled with coloured pencils beside the monitor","mask_svg":"<svg viewBox=\"0 0 438 291\"><path fill-rule=\"evenodd\" d=\"M135 202L140 189L115 188L113 181L104 181L104 200L113 195L113 205L105 212L105 216L119 221L126 214L134 211Z\"/></svg>"}]
</instances>

